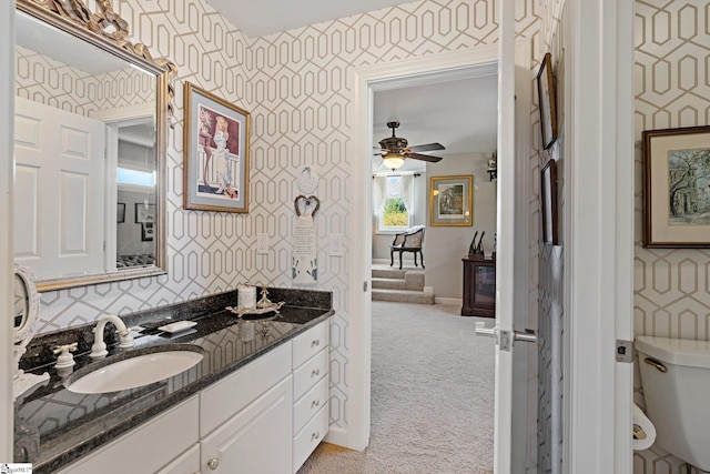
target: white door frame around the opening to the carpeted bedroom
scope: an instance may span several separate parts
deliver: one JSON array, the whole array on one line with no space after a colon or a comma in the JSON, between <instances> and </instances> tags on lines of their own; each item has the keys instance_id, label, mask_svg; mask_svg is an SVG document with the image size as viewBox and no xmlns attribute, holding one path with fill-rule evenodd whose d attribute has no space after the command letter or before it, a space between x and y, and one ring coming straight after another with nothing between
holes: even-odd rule
<instances>
[{"instance_id":1,"label":"white door frame around the opening to the carpeted bedroom","mask_svg":"<svg viewBox=\"0 0 710 474\"><path fill-rule=\"evenodd\" d=\"M353 229L352 248L348 264L353 269L349 275L348 297L352 302L348 320L348 376L349 416L346 433L328 434L328 441L362 451L369 443L371 425L371 341L372 341L372 117L373 93L386 82L398 80L398 87L406 78L413 81L434 78L442 73L466 73L476 67L498 62L498 46L478 47L465 51L436 54L428 58L404 60L356 68L352 72L354 88L354 145L353 157L353 212L349 224ZM475 335L471 333L471 337Z\"/></svg>"}]
</instances>

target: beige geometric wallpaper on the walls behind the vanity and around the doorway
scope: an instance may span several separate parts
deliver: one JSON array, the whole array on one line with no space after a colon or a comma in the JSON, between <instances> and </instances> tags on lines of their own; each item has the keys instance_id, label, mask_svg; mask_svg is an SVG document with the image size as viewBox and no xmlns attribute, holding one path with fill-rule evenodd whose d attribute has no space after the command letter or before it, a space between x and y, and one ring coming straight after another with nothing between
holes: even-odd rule
<instances>
[{"instance_id":1,"label":"beige geometric wallpaper on the walls behind the vanity and around the doorway","mask_svg":"<svg viewBox=\"0 0 710 474\"><path fill-rule=\"evenodd\" d=\"M518 3L517 31L537 31L535 0ZM199 0L115 0L134 41L178 65L174 130L168 147L168 274L42 294L40 332L191 300L254 284L293 286L291 248L296 216L294 185L304 167L318 177L317 288L333 291L331 422L347 428L346 384L351 269L328 255L327 236L353 242L349 220L362 212L352 200L349 114L353 68L428 57L497 41L493 0L419 1L247 39ZM182 209L183 82L190 81L252 113L250 212ZM257 233L270 235L268 254L256 254Z\"/></svg>"}]
</instances>

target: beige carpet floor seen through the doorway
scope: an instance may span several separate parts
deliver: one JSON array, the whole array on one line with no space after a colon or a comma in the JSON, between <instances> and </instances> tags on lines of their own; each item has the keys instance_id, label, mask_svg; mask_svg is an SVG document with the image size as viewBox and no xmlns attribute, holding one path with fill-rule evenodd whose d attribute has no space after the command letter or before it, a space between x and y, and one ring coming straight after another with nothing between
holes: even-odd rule
<instances>
[{"instance_id":1,"label":"beige carpet floor seen through the doorway","mask_svg":"<svg viewBox=\"0 0 710 474\"><path fill-rule=\"evenodd\" d=\"M494 340L459 311L373 302L369 446L322 443L298 474L493 473Z\"/></svg>"}]
</instances>

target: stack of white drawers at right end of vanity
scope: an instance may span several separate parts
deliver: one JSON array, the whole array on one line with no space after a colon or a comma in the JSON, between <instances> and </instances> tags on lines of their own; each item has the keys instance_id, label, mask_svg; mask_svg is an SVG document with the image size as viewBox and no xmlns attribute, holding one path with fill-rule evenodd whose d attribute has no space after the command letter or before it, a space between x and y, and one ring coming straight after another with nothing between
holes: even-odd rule
<instances>
[{"instance_id":1,"label":"stack of white drawers at right end of vanity","mask_svg":"<svg viewBox=\"0 0 710 474\"><path fill-rule=\"evenodd\" d=\"M328 431L329 323L324 321L293 341L293 472Z\"/></svg>"}]
</instances>

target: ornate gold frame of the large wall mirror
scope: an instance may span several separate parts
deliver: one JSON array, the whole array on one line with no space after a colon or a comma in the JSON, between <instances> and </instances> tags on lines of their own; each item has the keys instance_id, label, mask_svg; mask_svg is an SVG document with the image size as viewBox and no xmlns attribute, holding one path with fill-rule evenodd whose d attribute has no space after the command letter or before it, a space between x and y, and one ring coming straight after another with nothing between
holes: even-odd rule
<instances>
[{"instance_id":1,"label":"ornate gold frame of the large wall mirror","mask_svg":"<svg viewBox=\"0 0 710 474\"><path fill-rule=\"evenodd\" d=\"M168 174L165 160L168 129L172 129L174 123L173 98L175 90L172 81L176 75L178 69L173 62L165 58L154 59L145 44L133 43L128 39L129 24L113 10L111 0L95 0L97 11L91 11L87 3L89 3L89 0L17 0L17 9L155 74L158 83L158 107L155 110L158 170L158 184L155 188L155 222L158 226L154 235L156 240L155 265L94 275L41 280L37 282L37 288L40 291L130 280L166 272L165 193Z\"/></svg>"}]
</instances>

